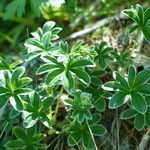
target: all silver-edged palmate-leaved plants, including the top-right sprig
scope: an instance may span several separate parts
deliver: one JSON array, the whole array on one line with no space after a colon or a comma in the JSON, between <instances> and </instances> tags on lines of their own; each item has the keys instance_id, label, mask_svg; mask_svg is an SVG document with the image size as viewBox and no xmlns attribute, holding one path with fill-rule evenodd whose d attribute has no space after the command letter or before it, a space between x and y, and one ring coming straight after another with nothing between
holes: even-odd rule
<instances>
[{"instance_id":1,"label":"all silver-edged palmate-leaved plants, including the top-right sprig","mask_svg":"<svg viewBox=\"0 0 150 150\"><path fill-rule=\"evenodd\" d=\"M147 41L149 10L144 11L136 5L124 11L136 23L131 31L141 29ZM149 127L150 70L138 72L134 65L128 64L128 72L114 71L113 79L107 79L105 75L110 75L109 71L113 70L108 62L118 61L116 66L126 67L130 53L122 57L106 42L93 45L77 42L70 47L65 41L54 41L59 38L60 31L61 28L55 27L55 22L48 21L26 40L27 55L24 61L10 63L0 57L0 70L3 71L3 78L0 78L0 109L10 107L10 118L20 117L22 121L18 125L21 127L15 126L13 129L16 139L11 139L5 147L48 149L49 146L42 144L44 136L39 133L40 130L48 134L51 130L59 130L54 134L67 134L69 146L98 149L95 136L107 133L99 123L102 118L100 112L107 109L107 100L109 109L125 106L127 109L121 113L121 119L134 118L137 130ZM114 61L114 57L119 59ZM35 65L36 79L31 79L28 77L30 74L25 72L26 64L32 63L33 59L40 62ZM65 121L61 123L58 120L60 106L66 110Z\"/></svg>"}]
</instances>

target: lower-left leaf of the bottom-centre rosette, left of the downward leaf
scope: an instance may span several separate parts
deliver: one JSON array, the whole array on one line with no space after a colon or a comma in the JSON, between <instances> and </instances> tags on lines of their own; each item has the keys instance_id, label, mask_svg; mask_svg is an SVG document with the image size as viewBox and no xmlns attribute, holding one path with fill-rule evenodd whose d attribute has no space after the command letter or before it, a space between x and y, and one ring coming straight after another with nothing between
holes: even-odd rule
<instances>
[{"instance_id":1,"label":"lower-left leaf of the bottom-centre rosette, left of the downward leaf","mask_svg":"<svg viewBox=\"0 0 150 150\"><path fill-rule=\"evenodd\" d=\"M70 146L77 145L81 139L81 133L80 132L73 132L68 136L68 144Z\"/></svg>"}]
</instances>

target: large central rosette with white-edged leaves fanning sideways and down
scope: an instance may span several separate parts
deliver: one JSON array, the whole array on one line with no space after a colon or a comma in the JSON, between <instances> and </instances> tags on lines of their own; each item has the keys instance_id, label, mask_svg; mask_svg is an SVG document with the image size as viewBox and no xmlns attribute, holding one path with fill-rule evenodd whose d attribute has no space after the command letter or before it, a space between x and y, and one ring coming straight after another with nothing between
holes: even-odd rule
<instances>
[{"instance_id":1,"label":"large central rosette with white-edged leaves fanning sideways and down","mask_svg":"<svg viewBox=\"0 0 150 150\"><path fill-rule=\"evenodd\" d=\"M86 85L90 84L90 76L84 68L93 67L94 63L92 61L82 59L58 62L57 58L52 56L42 56L41 59L46 64L41 65L36 74L48 73L45 78L46 84L53 85L58 83L58 81L62 81L66 89L73 89L75 86L75 77Z\"/></svg>"}]
</instances>

